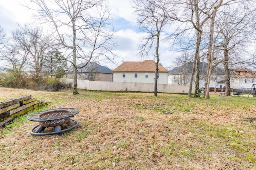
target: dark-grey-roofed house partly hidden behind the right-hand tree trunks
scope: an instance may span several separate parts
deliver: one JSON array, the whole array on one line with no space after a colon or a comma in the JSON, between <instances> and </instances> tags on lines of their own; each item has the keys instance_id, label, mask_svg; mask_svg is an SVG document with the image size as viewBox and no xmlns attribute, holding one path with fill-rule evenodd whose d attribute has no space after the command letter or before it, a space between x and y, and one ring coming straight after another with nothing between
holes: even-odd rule
<instances>
[{"instance_id":1,"label":"dark-grey-roofed house partly hidden behind the right-hand tree trunks","mask_svg":"<svg viewBox=\"0 0 256 170\"><path fill-rule=\"evenodd\" d=\"M183 64L182 66L178 66L170 70L168 72L168 84L178 84L178 85L189 85L190 78L192 74L192 67L193 62L188 62ZM200 81L199 81L199 88L205 88L205 79L206 79L206 70L207 70L207 63L200 62ZM210 88L224 88L221 84L217 84L224 79L224 70L219 67L214 67L212 69L212 75L210 80ZM193 85L195 85L195 78L193 80Z\"/></svg>"}]
</instances>

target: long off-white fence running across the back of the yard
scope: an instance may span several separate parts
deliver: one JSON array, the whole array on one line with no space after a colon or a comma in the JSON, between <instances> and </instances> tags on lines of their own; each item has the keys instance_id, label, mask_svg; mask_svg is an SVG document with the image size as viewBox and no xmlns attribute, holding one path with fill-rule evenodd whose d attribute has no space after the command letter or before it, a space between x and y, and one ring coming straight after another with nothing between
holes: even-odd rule
<instances>
[{"instance_id":1,"label":"long off-white fence running across the back of the yard","mask_svg":"<svg viewBox=\"0 0 256 170\"><path fill-rule=\"evenodd\" d=\"M68 84L73 79L61 78L61 81ZM77 86L86 90L102 91L134 91L134 92L154 92L153 83L131 83L131 82L100 82L90 80L77 80ZM161 93L188 93L189 86L173 84L157 84L157 91ZM192 92L195 87L192 86Z\"/></svg>"}]
</instances>

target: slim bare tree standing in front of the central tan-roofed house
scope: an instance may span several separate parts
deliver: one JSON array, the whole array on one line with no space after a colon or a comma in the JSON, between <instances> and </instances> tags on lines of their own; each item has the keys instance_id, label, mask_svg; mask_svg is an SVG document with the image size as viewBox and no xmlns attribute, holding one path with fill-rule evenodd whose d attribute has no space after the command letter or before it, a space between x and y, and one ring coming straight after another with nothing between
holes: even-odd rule
<instances>
[{"instance_id":1,"label":"slim bare tree standing in front of the central tan-roofed house","mask_svg":"<svg viewBox=\"0 0 256 170\"><path fill-rule=\"evenodd\" d=\"M158 64L160 61L159 45L160 35L164 33L164 26L168 24L170 18L166 12L154 5L154 0L132 0L135 13L138 15L139 29L143 35L142 43L139 46L140 55L148 56L155 49L156 69L154 78L154 96L157 96Z\"/></svg>"}]
</instances>

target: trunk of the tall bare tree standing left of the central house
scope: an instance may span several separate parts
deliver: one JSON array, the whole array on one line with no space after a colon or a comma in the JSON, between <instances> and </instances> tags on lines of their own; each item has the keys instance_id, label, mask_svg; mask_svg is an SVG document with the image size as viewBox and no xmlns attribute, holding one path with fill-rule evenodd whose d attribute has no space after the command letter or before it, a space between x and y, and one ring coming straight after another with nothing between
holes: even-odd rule
<instances>
[{"instance_id":1,"label":"trunk of the tall bare tree standing left of the central house","mask_svg":"<svg viewBox=\"0 0 256 170\"><path fill-rule=\"evenodd\" d=\"M74 83L74 88L73 88L73 94L78 94L78 89L77 89L77 69L76 69L76 25L75 21L73 21L73 83Z\"/></svg>"}]
</instances>

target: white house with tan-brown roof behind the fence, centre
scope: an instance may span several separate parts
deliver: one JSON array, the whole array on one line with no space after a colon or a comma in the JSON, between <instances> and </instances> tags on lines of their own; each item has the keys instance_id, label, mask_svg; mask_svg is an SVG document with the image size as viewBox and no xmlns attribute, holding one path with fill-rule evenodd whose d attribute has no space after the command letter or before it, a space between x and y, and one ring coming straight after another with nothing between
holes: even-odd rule
<instances>
[{"instance_id":1,"label":"white house with tan-brown roof behind the fence, centre","mask_svg":"<svg viewBox=\"0 0 256 170\"><path fill-rule=\"evenodd\" d=\"M113 70L113 82L154 83L156 62L126 61ZM168 84L168 70L158 65L158 84Z\"/></svg>"}]
</instances>

